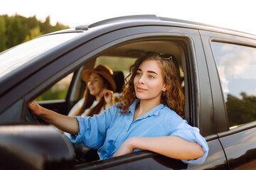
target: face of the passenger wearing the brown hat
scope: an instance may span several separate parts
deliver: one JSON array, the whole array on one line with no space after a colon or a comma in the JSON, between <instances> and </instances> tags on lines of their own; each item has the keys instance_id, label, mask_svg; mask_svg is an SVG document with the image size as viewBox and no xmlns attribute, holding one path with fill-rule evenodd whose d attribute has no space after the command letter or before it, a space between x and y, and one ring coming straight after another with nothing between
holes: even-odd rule
<instances>
[{"instance_id":1,"label":"face of the passenger wearing the brown hat","mask_svg":"<svg viewBox=\"0 0 256 170\"><path fill-rule=\"evenodd\" d=\"M105 88L103 79L97 73L90 74L87 86L90 94L96 97Z\"/></svg>"}]
</instances>

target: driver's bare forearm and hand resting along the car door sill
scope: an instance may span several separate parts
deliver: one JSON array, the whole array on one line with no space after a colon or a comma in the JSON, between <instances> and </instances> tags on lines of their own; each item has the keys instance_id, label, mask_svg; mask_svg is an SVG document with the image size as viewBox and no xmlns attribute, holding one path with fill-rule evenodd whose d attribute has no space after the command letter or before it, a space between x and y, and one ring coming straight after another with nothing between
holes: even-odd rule
<instances>
[{"instance_id":1,"label":"driver's bare forearm and hand resting along the car door sill","mask_svg":"<svg viewBox=\"0 0 256 170\"><path fill-rule=\"evenodd\" d=\"M134 149L149 150L174 159L197 159L204 154L201 145L177 136L132 137L119 147L113 157L132 153Z\"/></svg>"}]
</instances>

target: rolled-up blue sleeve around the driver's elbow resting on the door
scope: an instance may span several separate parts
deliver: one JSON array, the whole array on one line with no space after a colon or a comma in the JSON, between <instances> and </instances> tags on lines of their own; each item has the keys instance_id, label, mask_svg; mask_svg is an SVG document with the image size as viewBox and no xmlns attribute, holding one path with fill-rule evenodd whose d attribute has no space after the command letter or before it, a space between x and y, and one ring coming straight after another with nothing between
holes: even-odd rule
<instances>
[{"instance_id":1,"label":"rolled-up blue sleeve around the driver's elbow resting on the door","mask_svg":"<svg viewBox=\"0 0 256 170\"><path fill-rule=\"evenodd\" d=\"M181 160L182 162L186 164L202 164L206 160L209 147L205 138L200 134L198 128L191 127L186 123L186 120L183 120L183 122L177 126L177 130L171 135L181 137L191 142L197 142L203 148L204 154L202 157L199 157L198 159Z\"/></svg>"}]
</instances>

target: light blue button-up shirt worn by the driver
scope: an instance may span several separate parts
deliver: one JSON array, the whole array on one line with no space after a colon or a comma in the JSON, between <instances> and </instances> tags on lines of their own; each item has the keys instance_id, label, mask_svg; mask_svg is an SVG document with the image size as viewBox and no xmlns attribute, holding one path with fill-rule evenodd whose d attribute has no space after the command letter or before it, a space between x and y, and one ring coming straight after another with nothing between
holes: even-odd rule
<instances>
[{"instance_id":1,"label":"light blue button-up shirt worn by the driver","mask_svg":"<svg viewBox=\"0 0 256 170\"><path fill-rule=\"evenodd\" d=\"M100 115L78 119L78 135L71 135L73 143L84 147L99 148L100 159L113 156L122 143L130 137L178 136L185 140L197 142L203 147L203 157L182 160L184 163L201 164L207 157L208 145L200 135L198 128L188 125L176 112L160 104L136 120L134 111L139 99L129 106L129 113L120 114L119 108L112 106Z\"/></svg>"}]
</instances>

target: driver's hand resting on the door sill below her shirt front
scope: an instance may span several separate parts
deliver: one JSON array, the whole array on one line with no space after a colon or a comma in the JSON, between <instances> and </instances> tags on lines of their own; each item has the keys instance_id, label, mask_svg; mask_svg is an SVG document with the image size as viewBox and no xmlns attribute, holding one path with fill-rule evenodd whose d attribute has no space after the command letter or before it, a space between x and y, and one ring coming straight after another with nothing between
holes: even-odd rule
<instances>
[{"instance_id":1,"label":"driver's hand resting on the door sill below her shirt front","mask_svg":"<svg viewBox=\"0 0 256 170\"><path fill-rule=\"evenodd\" d=\"M134 142L136 142L136 137L131 137L124 141L124 143L119 147L117 152L114 153L113 157L119 157L124 154L131 154L134 151Z\"/></svg>"}]
</instances>

